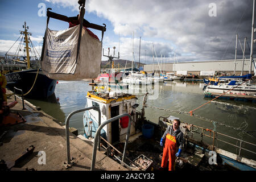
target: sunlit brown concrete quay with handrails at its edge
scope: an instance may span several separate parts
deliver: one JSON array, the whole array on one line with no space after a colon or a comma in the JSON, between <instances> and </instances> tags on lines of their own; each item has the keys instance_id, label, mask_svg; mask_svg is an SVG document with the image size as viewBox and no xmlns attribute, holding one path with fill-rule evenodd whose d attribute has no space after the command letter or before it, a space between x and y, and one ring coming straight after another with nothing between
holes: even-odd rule
<instances>
[{"instance_id":1,"label":"sunlit brown concrete quay with handrails at its edge","mask_svg":"<svg viewBox=\"0 0 256 182\"><path fill-rule=\"evenodd\" d=\"M8 90L7 94L10 93ZM92 163L93 145L70 133L71 159L75 162L72 167L67 168L67 147L65 129L60 126L55 118L43 111L36 110L36 107L29 102L24 102L16 97L18 104L10 109L10 113L19 113L26 122L16 123L10 126L0 127L0 160L10 164L19 158L30 146L35 149L32 154L19 161L11 169L37 171L86 171L90 170ZM7 102L13 102L11 96ZM6 132L5 132L6 131ZM2 135L3 134L3 135ZM96 170L101 171L126 171L121 164L110 159L100 151L97 151Z\"/></svg>"}]
</instances>

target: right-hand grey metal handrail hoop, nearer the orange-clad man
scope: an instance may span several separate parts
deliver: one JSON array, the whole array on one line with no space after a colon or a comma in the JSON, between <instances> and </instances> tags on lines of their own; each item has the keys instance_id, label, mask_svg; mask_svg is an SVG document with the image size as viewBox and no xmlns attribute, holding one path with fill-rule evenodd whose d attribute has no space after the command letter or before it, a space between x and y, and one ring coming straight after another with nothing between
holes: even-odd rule
<instances>
[{"instance_id":1,"label":"right-hand grey metal handrail hoop, nearer the orange-clad man","mask_svg":"<svg viewBox=\"0 0 256 182\"><path fill-rule=\"evenodd\" d=\"M121 115L117 115L116 117L110 118L107 121L105 121L104 123L102 123L101 125L98 126L98 129L96 131L95 134L95 138L98 137L98 135L100 134L101 129L107 125L108 123L111 123L119 118L122 117L129 117L129 123L128 123L128 129L127 129L127 134L126 134L126 141L125 141L125 148L123 148L123 158L122 158L122 162L126 157L126 148L127 148L127 143L130 137L130 129L131 129L131 115L130 114L121 114ZM92 165L90 167L90 171L94 171L94 167L95 167L95 160L96 160L96 147L97 147L97 140L94 140L94 144L93 144L93 154L92 154Z\"/></svg>"}]
</instances>

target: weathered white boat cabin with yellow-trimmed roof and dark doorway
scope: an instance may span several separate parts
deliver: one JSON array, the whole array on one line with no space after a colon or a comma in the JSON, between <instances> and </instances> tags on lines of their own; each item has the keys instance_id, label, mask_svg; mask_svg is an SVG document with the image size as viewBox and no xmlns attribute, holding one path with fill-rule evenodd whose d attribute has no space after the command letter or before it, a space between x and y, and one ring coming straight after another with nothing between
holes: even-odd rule
<instances>
[{"instance_id":1,"label":"weathered white boat cabin with yellow-trimmed roof and dark doorway","mask_svg":"<svg viewBox=\"0 0 256 182\"><path fill-rule=\"evenodd\" d=\"M90 91L87 93L86 107L96 106L101 112L101 123L120 114L129 113L132 117L130 135L135 134L136 125L136 104L137 97L125 94L121 91L109 93L97 93ZM94 138L98 129L98 111L91 109L84 112L84 137ZM129 117L123 117L105 125L101 130L101 137L109 143L117 143L125 140L128 129Z\"/></svg>"}]
</instances>

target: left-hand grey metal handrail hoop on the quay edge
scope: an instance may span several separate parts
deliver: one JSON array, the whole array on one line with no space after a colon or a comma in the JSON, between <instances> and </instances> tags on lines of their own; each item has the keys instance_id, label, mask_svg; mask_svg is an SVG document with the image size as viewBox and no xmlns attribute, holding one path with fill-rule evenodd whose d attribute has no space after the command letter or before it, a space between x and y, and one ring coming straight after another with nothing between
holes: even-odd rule
<instances>
[{"instance_id":1,"label":"left-hand grey metal handrail hoop on the quay edge","mask_svg":"<svg viewBox=\"0 0 256 182\"><path fill-rule=\"evenodd\" d=\"M79 109L79 110L72 111L66 119L65 130L66 130L66 141L67 141L67 162L68 162L68 164L71 164L70 143L69 143L69 119L72 117L73 114L80 113L82 111L86 111L86 110L90 110L90 109L96 109L98 111L98 125L100 126L101 125L101 111L96 106L86 107L84 109ZM95 138L97 138L97 137L95 137ZM97 139L95 141L97 141ZM99 141L98 142L98 150L100 150L100 136L98 136L98 141Z\"/></svg>"}]
</instances>

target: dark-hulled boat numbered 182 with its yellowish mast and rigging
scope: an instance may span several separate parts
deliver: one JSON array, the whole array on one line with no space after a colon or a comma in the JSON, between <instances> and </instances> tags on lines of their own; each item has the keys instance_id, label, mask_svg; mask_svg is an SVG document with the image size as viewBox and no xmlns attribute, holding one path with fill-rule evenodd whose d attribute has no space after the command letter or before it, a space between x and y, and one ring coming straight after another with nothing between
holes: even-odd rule
<instances>
[{"instance_id":1,"label":"dark-hulled boat numbered 182 with its yellowish mast and rigging","mask_svg":"<svg viewBox=\"0 0 256 182\"><path fill-rule=\"evenodd\" d=\"M48 98L54 93L57 80L48 78L43 73L42 69L40 69L38 57L36 56L37 51L30 39L30 35L32 34L27 31L28 26L26 25L26 22L24 22L23 28L24 31L20 31L20 37L22 38L20 39L18 50L16 50L14 55L9 53L10 50L7 51L5 54L5 59L7 67L11 65L10 63L13 63L13 65L20 63L26 69L14 72L9 71L10 73L5 75L7 80L6 87L15 93L20 93L20 91L17 89L21 89L24 97ZM18 42L18 40L16 42ZM22 52L23 42L25 43L23 47L24 55L21 55L20 52ZM30 52L34 53L34 56L30 56Z\"/></svg>"}]
</instances>

